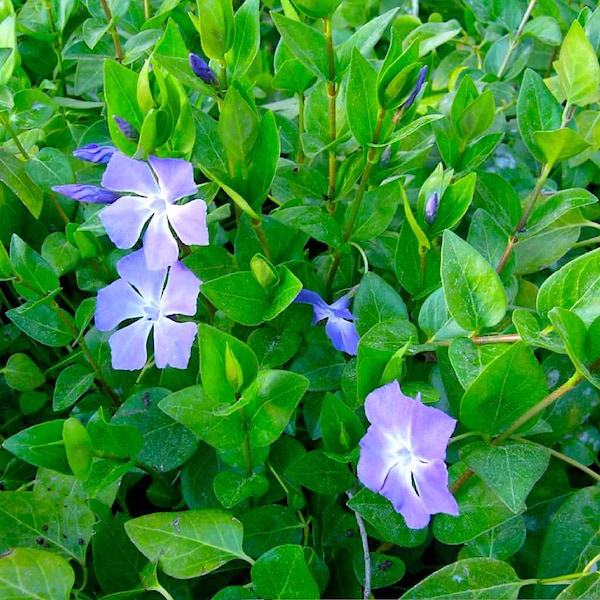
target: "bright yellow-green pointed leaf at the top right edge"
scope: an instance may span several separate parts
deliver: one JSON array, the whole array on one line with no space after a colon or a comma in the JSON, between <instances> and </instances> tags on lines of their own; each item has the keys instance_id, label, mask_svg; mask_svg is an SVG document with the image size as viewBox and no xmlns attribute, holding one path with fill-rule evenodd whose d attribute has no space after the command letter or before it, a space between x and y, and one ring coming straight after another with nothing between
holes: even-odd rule
<instances>
[{"instance_id":1,"label":"bright yellow-green pointed leaf at the top right edge","mask_svg":"<svg viewBox=\"0 0 600 600\"><path fill-rule=\"evenodd\" d=\"M577 19L567 31L554 68L568 104L585 106L598 101L600 65L596 51Z\"/></svg>"}]
</instances>

